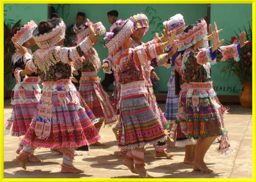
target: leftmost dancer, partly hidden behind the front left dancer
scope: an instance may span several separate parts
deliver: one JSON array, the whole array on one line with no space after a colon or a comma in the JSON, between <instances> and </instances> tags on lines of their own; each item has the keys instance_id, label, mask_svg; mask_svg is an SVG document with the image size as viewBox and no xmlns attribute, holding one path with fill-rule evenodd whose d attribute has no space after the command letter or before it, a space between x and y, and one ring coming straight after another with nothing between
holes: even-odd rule
<instances>
[{"instance_id":1,"label":"leftmost dancer, partly hidden behind the front left dancer","mask_svg":"<svg viewBox=\"0 0 256 182\"><path fill-rule=\"evenodd\" d=\"M33 31L37 28L37 25L33 20L27 22L26 25L16 28L13 31L12 42L13 44L19 43L23 45L28 54L32 55L31 47L35 45L35 41L32 38ZM41 89L39 86L40 79L36 74L29 70L24 70L26 60L23 55L16 52L12 57L13 63L13 75L16 79L16 85L13 88L12 102L13 105L13 128L12 136L20 137L27 132L31 120L34 116L36 107L38 106ZM20 141L19 148L16 153L19 154L25 144ZM30 155L28 161L41 162L40 159L33 154Z\"/></svg>"}]
</instances>

